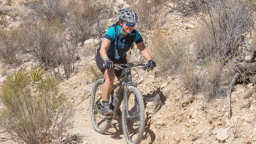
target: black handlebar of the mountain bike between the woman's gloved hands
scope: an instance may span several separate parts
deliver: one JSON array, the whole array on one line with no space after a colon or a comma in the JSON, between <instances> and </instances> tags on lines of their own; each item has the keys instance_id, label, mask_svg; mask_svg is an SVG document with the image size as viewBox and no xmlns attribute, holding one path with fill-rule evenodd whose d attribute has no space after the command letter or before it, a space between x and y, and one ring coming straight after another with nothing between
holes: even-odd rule
<instances>
[{"instance_id":1,"label":"black handlebar of the mountain bike between the woman's gloved hands","mask_svg":"<svg viewBox=\"0 0 256 144\"><path fill-rule=\"evenodd\" d=\"M103 67L106 67L106 63L103 63ZM141 67L142 66L142 67ZM126 63L126 64L116 64L114 63L114 69L115 70L120 70L120 69L126 69L126 68L132 68L132 67L137 67L141 68L143 70L150 69L150 66L148 63L144 64L133 64L133 63Z\"/></svg>"}]
</instances>

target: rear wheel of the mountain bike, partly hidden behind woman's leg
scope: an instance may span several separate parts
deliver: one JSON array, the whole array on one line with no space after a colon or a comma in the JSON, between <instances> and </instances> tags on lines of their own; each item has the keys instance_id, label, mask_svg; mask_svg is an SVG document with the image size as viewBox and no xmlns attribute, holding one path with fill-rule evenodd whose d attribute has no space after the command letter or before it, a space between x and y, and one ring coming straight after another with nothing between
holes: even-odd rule
<instances>
[{"instance_id":1,"label":"rear wheel of the mountain bike, partly hidden behind woman's leg","mask_svg":"<svg viewBox=\"0 0 256 144\"><path fill-rule=\"evenodd\" d=\"M103 116L101 114L101 103L102 103L102 85L104 83L104 79L97 80L92 89L91 97L90 97L90 115L92 119L92 124L94 130L99 133L105 133L110 128L111 118Z\"/></svg>"}]
</instances>

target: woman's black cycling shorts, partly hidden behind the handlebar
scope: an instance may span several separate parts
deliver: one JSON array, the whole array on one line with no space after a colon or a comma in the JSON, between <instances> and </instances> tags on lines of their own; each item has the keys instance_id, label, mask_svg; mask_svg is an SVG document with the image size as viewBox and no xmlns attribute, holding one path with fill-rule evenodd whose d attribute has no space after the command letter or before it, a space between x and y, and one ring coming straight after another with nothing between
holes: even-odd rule
<instances>
[{"instance_id":1,"label":"woman's black cycling shorts, partly hidden behind the handlebar","mask_svg":"<svg viewBox=\"0 0 256 144\"><path fill-rule=\"evenodd\" d=\"M122 59L122 60L115 60L115 59L110 59L111 61L113 61L113 63L117 63L117 64L126 64L127 63L127 59ZM96 54L96 64L98 66L98 68L100 69L100 71L102 72L102 74L104 74L105 70L107 70L107 67L103 67L103 63L105 63L101 56L100 53L97 52ZM122 69L120 70L115 70L115 76L118 78L121 76L122 73Z\"/></svg>"}]
</instances>

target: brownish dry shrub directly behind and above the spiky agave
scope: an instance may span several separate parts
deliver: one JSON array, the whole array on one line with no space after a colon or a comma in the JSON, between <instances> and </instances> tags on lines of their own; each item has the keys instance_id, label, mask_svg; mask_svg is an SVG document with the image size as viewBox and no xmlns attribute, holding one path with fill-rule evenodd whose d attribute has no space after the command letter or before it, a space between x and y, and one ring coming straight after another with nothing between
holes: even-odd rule
<instances>
[{"instance_id":1,"label":"brownish dry shrub directly behind and above the spiky agave","mask_svg":"<svg viewBox=\"0 0 256 144\"><path fill-rule=\"evenodd\" d=\"M19 46L23 53L32 55L37 62L56 66L61 60L63 28L58 23L23 23L20 26Z\"/></svg>"}]
</instances>

